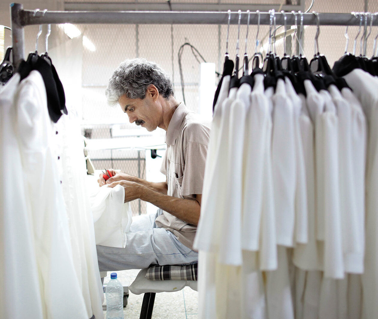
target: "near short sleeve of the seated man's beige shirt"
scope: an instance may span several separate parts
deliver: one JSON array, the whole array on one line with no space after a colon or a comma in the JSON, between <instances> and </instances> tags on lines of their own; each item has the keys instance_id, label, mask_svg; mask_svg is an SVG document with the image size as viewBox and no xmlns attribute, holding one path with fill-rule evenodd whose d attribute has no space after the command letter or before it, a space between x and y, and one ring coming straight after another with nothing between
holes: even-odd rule
<instances>
[{"instance_id":1,"label":"near short sleeve of the seated man's beige shirt","mask_svg":"<svg viewBox=\"0 0 378 319\"><path fill-rule=\"evenodd\" d=\"M185 169L180 195L202 194L203 177L208 146L198 142L188 142L184 149Z\"/></svg>"}]
</instances>

